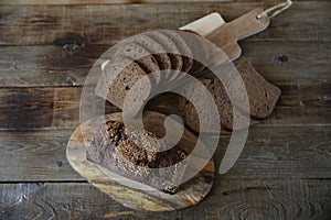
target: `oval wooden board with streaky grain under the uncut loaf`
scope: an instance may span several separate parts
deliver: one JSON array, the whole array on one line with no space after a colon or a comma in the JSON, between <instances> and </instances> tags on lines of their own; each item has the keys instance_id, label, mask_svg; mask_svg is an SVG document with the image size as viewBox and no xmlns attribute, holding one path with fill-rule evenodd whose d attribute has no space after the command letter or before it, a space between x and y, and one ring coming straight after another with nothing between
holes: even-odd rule
<instances>
[{"instance_id":1,"label":"oval wooden board with streaky grain under the uncut loaf","mask_svg":"<svg viewBox=\"0 0 331 220\"><path fill-rule=\"evenodd\" d=\"M160 124L163 123L166 116L157 112L146 112L143 118L148 131L153 131L159 135L164 133L160 129ZM105 119L121 121L121 113L107 114ZM100 121L100 119L97 120ZM125 207L148 211L177 210L197 204L211 190L215 172L213 161L210 161L196 176L181 185L175 195L161 193L150 186L121 177L87 161L85 154L94 136L94 121L88 120L74 131L66 147L67 160L72 167L92 185ZM179 145L188 150L188 147L194 147L195 141L196 136L185 130ZM132 186L135 187L132 188Z\"/></svg>"}]
</instances>

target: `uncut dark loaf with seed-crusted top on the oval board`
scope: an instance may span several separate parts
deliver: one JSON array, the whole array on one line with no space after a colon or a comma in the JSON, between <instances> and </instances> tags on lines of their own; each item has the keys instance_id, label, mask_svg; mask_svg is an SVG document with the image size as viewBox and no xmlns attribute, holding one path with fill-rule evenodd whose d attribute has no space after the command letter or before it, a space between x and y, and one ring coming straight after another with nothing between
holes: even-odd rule
<instances>
[{"instance_id":1,"label":"uncut dark loaf with seed-crusted top on the oval board","mask_svg":"<svg viewBox=\"0 0 331 220\"><path fill-rule=\"evenodd\" d=\"M164 152L159 138L150 132L124 125L103 123L87 148L88 161L132 180L167 194L174 194L184 175L188 153L178 146ZM166 169L158 169L168 167Z\"/></svg>"}]
</instances>

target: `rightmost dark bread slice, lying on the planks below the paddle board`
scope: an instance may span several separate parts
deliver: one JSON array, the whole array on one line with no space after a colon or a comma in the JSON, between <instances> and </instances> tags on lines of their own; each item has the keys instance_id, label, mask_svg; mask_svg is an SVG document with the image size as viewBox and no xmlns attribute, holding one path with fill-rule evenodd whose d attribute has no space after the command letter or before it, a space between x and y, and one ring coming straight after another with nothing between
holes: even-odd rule
<instances>
[{"instance_id":1,"label":"rightmost dark bread slice, lying on the planks below the paddle board","mask_svg":"<svg viewBox=\"0 0 331 220\"><path fill-rule=\"evenodd\" d=\"M276 102L280 97L280 89L268 82L259 75L247 59L241 59L236 64L236 68L245 84L245 88L249 99L250 117L254 119L265 119L270 116L275 109ZM225 85L236 77L229 77L225 80ZM233 89L229 87L228 89ZM234 94L236 91L234 90ZM239 96L235 96L238 98ZM237 99L236 102L243 100Z\"/></svg>"}]
</instances>

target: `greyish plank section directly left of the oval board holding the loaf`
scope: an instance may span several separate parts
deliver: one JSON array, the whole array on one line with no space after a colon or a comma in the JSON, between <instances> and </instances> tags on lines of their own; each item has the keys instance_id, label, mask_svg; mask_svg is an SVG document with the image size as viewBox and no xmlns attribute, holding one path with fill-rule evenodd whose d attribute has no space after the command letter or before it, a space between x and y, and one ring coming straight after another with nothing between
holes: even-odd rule
<instances>
[{"instance_id":1,"label":"greyish plank section directly left of the oval board holding the loaf","mask_svg":"<svg viewBox=\"0 0 331 220\"><path fill-rule=\"evenodd\" d=\"M0 132L1 180L82 180L65 158L72 130Z\"/></svg>"}]
</instances>

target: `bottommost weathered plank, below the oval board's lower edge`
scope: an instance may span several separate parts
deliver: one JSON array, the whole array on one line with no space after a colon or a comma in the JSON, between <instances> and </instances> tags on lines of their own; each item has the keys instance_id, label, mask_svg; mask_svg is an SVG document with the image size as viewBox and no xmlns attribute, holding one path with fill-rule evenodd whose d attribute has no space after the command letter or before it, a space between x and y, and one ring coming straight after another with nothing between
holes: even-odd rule
<instances>
[{"instance_id":1,"label":"bottommost weathered plank, below the oval board's lower edge","mask_svg":"<svg viewBox=\"0 0 331 220\"><path fill-rule=\"evenodd\" d=\"M1 184L1 219L328 219L331 182L217 179L201 204L171 212L124 208L85 183Z\"/></svg>"}]
</instances>

